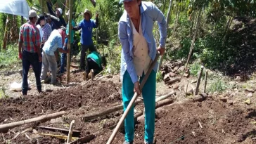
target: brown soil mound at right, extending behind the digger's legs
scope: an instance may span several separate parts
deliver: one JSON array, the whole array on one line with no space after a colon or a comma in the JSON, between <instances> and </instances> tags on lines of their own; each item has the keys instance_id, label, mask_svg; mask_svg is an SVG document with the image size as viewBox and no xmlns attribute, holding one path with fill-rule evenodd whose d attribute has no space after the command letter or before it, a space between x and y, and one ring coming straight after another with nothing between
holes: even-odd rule
<instances>
[{"instance_id":1,"label":"brown soil mound at right, extending behind the digger's legs","mask_svg":"<svg viewBox=\"0 0 256 144\"><path fill-rule=\"evenodd\" d=\"M256 133L249 119L255 119L256 112L241 105L206 100L167 106L156 114L155 143L158 144L256 143L252 139ZM143 143L144 122L136 124L135 128L134 143ZM111 131L106 131L90 143L106 143L110 135ZM116 137L113 143L122 143L122 137Z\"/></svg>"}]
</instances>

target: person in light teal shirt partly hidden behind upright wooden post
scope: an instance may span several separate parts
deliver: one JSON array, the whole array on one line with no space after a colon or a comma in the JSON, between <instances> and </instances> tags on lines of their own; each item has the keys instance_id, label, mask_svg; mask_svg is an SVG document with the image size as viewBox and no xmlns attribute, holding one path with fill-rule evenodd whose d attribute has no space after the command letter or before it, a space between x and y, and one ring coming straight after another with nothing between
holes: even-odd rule
<instances>
[{"instance_id":1,"label":"person in light teal shirt partly hidden behind upright wooden post","mask_svg":"<svg viewBox=\"0 0 256 144\"><path fill-rule=\"evenodd\" d=\"M68 16L69 18L69 15L70 15L70 11L68 11L66 13L66 15ZM72 18L74 18L75 16L75 13L73 13L73 16ZM70 20L69 20L70 21ZM72 27L75 27L75 20L71 20L71 25ZM65 39L65 43L64 43L64 46L63 46L63 49L64 50L67 50L68 49L68 32L69 32L69 25L67 25L67 30L66 30L66 34L67 34L67 37ZM70 48L72 49L73 47L73 42L74 42L74 35L75 35L75 31L74 30L71 30L71 34L70 34ZM61 53L61 57L60 57L60 73L64 73L65 72L65 66L66 66L66 57L67 57L67 54L66 53ZM70 57L71 58L71 57Z\"/></svg>"}]
</instances>

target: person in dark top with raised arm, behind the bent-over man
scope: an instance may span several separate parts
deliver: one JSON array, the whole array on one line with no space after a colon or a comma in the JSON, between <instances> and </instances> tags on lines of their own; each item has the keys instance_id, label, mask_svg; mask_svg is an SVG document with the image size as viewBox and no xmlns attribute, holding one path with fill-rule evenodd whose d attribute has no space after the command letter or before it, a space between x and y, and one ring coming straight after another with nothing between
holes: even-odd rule
<instances>
[{"instance_id":1,"label":"person in dark top with raised arm, behind the bent-over man","mask_svg":"<svg viewBox=\"0 0 256 144\"><path fill-rule=\"evenodd\" d=\"M67 23L65 22L64 18L61 16L62 13L63 13L62 9L61 9L61 8L57 8L57 9L56 9L56 12L54 13L54 12L53 12L53 8L52 8L52 6L51 6L49 0L46 0L46 5L47 5L47 8L48 8L49 13L50 13L51 15L56 16L57 18L60 19L60 21L55 20L55 19L53 19L53 18L51 19L51 21L52 21L52 22L51 22L51 29L52 29L52 30L58 30L58 29L60 29L61 26L67 27Z\"/></svg>"}]
</instances>

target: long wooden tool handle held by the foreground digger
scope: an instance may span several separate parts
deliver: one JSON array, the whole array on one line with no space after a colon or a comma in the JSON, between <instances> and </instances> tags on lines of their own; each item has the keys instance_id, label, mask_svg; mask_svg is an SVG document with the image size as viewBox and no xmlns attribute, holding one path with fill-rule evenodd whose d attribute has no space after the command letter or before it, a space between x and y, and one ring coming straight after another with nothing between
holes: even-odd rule
<instances>
[{"instance_id":1,"label":"long wooden tool handle held by the foreground digger","mask_svg":"<svg viewBox=\"0 0 256 144\"><path fill-rule=\"evenodd\" d=\"M151 63L151 66L148 68L148 72L146 72L145 77L142 79L141 84L140 84L140 90L142 90L144 84L146 83L146 81L149 77L149 74L151 74L153 67L158 62L159 55L160 54L157 53L157 55L155 56L155 60L153 61L153 63ZM125 117L127 116L129 110L131 109L132 105L134 104L134 102L138 96L139 96L138 93L134 93L132 100L130 101L129 105L127 106L127 109L124 111L124 114L122 114L122 117L119 120L119 122L117 123L117 126L115 126L115 129L114 129L113 133L111 134L110 138L108 139L107 144L111 144L113 142L115 136L117 135L117 131L120 129L122 122L124 122Z\"/></svg>"}]
</instances>

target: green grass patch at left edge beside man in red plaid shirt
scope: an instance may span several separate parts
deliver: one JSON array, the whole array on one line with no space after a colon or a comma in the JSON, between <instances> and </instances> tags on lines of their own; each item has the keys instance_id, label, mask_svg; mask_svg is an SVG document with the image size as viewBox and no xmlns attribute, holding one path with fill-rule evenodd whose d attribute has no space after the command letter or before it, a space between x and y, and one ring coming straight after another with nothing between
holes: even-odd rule
<instances>
[{"instance_id":1,"label":"green grass patch at left edge beside man in red plaid shirt","mask_svg":"<svg viewBox=\"0 0 256 144\"><path fill-rule=\"evenodd\" d=\"M8 45L7 49L0 51L0 67L6 68L10 66L15 66L18 63L21 63L21 60L18 58L18 45L12 44Z\"/></svg>"}]
</instances>

